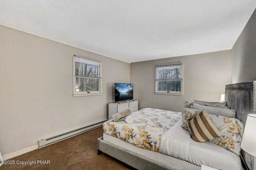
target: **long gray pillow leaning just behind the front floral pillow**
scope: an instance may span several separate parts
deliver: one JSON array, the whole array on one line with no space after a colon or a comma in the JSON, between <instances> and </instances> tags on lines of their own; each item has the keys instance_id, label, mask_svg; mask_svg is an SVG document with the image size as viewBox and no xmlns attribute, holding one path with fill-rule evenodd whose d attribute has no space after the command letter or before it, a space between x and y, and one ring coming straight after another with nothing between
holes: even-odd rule
<instances>
[{"instance_id":1,"label":"long gray pillow leaning just behind the front floral pillow","mask_svg":"<svg viewBox=\"0 0 256 170\"><path fill-rule=\"evenodd\" d=\"M199 111L205 110L207 113L212 113L215 115L236 118L236 111L234 109L225 109L225 108L220 108L220 107L209 107L209 106L200 105L198 103L192 103L192 105L190 105L190 108L199 110Z\"/></svg>"}]
</instances>

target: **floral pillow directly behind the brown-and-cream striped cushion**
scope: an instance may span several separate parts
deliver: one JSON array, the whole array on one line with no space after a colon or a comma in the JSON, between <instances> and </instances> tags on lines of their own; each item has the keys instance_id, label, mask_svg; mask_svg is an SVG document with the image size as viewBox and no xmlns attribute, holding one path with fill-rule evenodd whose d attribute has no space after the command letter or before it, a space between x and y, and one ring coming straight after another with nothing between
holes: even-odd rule
<instances>
[{"instance_id":1,"label":"floral pillow directly behind the brown-and-cream striped cushion","mask_svg":"<svg viewBox=\"0 0 256 170\"><path fill-rule=\"evenodd\" d=\"M190 131L188 122L196 117L201 111L195 109L184 108L182 110L182 125L181 127ZM236 155L240 155L242 136L244 133L244 125L236 118L229 118L220 115L207 113L212 123L222 133L222 136L209 140Z\"/></svg>"}]
</instances>

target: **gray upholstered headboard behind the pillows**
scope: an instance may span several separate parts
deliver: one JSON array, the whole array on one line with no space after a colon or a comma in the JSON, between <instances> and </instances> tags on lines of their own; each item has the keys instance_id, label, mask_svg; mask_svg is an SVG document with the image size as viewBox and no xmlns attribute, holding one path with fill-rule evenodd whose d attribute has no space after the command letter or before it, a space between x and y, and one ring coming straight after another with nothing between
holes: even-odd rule
<instances>
[{"instance_id":1,"label":"gray upholstered headboard behind the pillows","mask_svg":"<svg viewBox=\"0 0 256 170\"><path fill-rule=\"evenodd\" d=\"M226 85L225 100L227 105L236 110L236 118L242 121L244 126L246 125L247 115L256 113L254 107L256 93L254 93L254 90L256 91L256 81ZM241 155L250 170L253 170L254 157L243 150Z\"/></svg>"}]
</instances>

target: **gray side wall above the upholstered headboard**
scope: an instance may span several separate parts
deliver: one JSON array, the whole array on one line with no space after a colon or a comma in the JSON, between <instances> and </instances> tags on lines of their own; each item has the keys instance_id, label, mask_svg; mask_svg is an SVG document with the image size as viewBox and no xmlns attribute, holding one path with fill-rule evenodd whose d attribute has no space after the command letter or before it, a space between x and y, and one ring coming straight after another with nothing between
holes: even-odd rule
<instances>
[{"instance_id":1,"label":"gray side wall above the upholstered headboard","mask_svg":"<svg viewBox=\"0 0 256 170\"><path fill-rule=\"evenodd\" d=\"M232 48L232 83L256 80L256 10Z\"/></svg>"}]
</instances>

